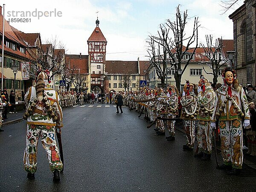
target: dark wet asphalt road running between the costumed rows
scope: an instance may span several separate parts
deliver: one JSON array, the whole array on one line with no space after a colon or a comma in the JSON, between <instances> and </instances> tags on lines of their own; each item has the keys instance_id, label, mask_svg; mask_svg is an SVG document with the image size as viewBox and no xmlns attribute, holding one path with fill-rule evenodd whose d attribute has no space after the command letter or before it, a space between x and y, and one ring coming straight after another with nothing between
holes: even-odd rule
<instances>
[{"instance_id":1,"label":"dark wet asphalt road running between the costumed rows","mask_svg":"<svg viewBox=\"0 0 256 192\"><path fill-rule=\"evenodd\" d=\"M102 105L102 107L96 107ZM46 152L38 143L38 171L28 180L23 169L26 122L0 133L0 191L256 191L256 177L216 170L215 158L201 161L182 151L185 136L157 136L143 116L107 104L64 109L64 172L52 182ZM166 134L166 136L169 136ZM219 160L221 157L218 157Z\"/></svg>"}]
</instances>

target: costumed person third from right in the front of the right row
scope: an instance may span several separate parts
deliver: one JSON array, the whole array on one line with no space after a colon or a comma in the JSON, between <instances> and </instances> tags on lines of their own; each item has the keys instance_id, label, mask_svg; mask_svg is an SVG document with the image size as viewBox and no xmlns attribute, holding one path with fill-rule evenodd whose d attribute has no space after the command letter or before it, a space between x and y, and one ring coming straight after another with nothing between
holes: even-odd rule
<instances>
[{"instance_id":1,"label":"costumed person third from right in the front of the right row","mask_svg":"<svg viewBox=\"0 0 256 192\"><path fill-rule=\"evenodd\" d=\"M182 105L181 118L184 120L184 131L187 137L184 151L192 151L195 143L195 119L198 112L197 96L194 84L186 81L180 103Z\"/></svg>"}]
</instances>

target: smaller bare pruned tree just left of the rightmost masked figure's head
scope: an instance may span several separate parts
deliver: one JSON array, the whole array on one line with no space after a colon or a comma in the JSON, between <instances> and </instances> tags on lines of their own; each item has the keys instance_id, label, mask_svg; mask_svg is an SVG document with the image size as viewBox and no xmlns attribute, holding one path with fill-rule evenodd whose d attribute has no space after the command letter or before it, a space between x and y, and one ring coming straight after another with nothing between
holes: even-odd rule
<instances>
[{"instance_id":1,"label":"smaller bare pruned tree just left of the rightmost masked figure's head","mask_svg":"<svg viewBox=\"0 0 256 192\"><path fill-rule=\"evenodd\" d=\"M213 84L218 82L218 71L223 68L224 65L230 64L229 59L223 54L223 40L216 39L215 44L212 42L212 35L206 35L206 46L201 44L204 48L204 55L202 55L202 61L199 63L205 73L213 75ZM210 67L212 72L207 72L204 68L204 64Z\"/></svg>"}]
</instances>

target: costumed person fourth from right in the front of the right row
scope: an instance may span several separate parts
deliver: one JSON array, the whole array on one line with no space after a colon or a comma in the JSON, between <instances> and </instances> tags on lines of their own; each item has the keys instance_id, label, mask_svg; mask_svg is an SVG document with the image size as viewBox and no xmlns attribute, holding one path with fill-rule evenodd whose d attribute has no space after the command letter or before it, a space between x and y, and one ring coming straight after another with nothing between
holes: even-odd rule
<instances>
[{"instance_id":1,"label":"costumed person fourth from right in the front of the right row","mask_svg":"<svg viewBox=\"0 0 256 192\"><path fill-rule=\"evenodd\" d=\"M177 87L173 84L169 85L167 87L167 98L166 98L166 104L167 104L167 118L175 118L176 115L179 114L178 111L178 90ZM166 137L168 141L175 140L175 120L167 121L167 128L169 131L170 136Z\"/></svg>"}]
</instances>

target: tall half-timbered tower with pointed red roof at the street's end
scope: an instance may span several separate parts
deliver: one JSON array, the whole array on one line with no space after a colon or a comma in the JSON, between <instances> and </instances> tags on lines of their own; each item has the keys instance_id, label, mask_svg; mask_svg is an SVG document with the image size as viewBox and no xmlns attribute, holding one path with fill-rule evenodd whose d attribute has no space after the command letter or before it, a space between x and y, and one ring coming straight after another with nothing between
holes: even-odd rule
<instances>
[{"instance_id":1,"label":"tall half-timbered tower with pointed red roof at the street's end","mask_svg":"<svg viewBox=\"0 0 256 192\"><path fill-rule=\"evenodd\" d=\"M90 72L91 90L104 91L105 55L107 40L99 29L97 17L96 28L87 40L88 44L88 67Z\"/></svg>"}]
</instances>

